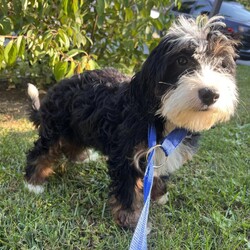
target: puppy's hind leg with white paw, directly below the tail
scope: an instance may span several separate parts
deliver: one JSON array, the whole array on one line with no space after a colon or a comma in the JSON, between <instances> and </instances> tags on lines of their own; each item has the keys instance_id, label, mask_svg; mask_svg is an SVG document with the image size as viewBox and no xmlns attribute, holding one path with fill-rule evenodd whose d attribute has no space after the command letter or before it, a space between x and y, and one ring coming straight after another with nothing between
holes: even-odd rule
<instances>
[{"instance_id":1,"label":"puppy's hind leg with white paw, directly below the tail","mask_svg":"<svg viewBox=\"0 0 250 250\"><path fill-rule=\"evenodd\" d=\"M61 155L60 144L40 137L27 154L25 179L30 191L40 193L44 182L54 172L53 164Z\"/></svg>"}]
</instances>

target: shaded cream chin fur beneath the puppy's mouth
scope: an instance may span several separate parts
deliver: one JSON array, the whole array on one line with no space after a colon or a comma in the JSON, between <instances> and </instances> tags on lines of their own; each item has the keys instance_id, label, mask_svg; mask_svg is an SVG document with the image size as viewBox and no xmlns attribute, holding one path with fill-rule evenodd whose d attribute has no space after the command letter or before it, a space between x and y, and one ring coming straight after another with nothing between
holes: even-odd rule
<instances>
[{"instance_id":1,"label":"shaded cream chin fur beneath the puppy's mouth","mask_svg":"<svg viewBox=\"0 0 250 250\"><path fill-rule=\"evenodd\" d=\"M201 132L209 130L218 123L228 121L231 115L225 111L204 105L197 109L183 110L178 113L170 112L166 114L166 117L176 127L185 128L192 132Z\"/></svg>"}]
</instances>

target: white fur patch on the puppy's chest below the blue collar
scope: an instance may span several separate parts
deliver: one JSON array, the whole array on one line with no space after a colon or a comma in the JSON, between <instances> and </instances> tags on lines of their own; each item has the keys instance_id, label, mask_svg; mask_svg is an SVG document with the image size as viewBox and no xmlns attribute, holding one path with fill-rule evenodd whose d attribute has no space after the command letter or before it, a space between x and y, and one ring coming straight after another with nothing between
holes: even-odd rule
<instances>
[{"instance_id":1,"label":"white fur patch on the puppy's chest below the blue collar","mask_svg":"<svg viewBox=\"0 0 250 250\"><path fill-rule=\"evenodd\" d=\"M175 151L166 157L162 149L155 150L155 176L168 175L178 170L186 161L191 160L195 150L181 143ZM158 167L157 167L158 166Z\"/></svg>"}]
</instances>

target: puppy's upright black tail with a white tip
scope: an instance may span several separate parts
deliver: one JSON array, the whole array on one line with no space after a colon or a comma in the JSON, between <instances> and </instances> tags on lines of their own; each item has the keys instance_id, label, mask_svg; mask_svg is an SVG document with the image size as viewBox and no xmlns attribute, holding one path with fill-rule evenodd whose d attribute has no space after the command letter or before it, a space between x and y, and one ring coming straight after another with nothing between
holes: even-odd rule
<instances>
[{"instance_id":1,"label":"puppy's upright black tail with a white tip","mask_svg":"<svg viewBox=\"0 0 250 250\"><path fill-rule=\"evenodd\" d=\"M28 83L28 96L30 99L29 119L36 127L40 125L40 100L38 89L31 83Z\"/></svg>"}]
</instances>

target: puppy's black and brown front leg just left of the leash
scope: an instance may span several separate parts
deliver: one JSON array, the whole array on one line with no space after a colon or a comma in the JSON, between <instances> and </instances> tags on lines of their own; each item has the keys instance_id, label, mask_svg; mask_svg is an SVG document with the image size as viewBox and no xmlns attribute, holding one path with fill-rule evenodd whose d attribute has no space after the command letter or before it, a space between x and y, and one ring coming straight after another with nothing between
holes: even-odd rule
<instances>
[{"instance_id":1,"label":"puppy's black and brown front leg just left of the leash","mask_svg":"<svg viewBox=\"0 0 250 250\"><path fill-rule=\"evenodd\" d=\"M142 177L128 158L123 159L109 160L111 211L117 224L135 228L143 207Z\"/></svg>"}]
</instances>

